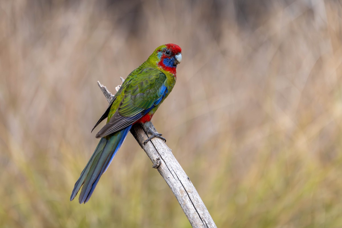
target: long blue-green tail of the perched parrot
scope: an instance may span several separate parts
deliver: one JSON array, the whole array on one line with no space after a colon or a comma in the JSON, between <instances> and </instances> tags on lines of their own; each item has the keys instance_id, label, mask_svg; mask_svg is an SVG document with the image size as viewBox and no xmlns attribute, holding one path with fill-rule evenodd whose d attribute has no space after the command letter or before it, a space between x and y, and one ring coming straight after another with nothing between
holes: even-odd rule
<instances>
[{"instance_id":1,"label":"long blue-green tail of the perched parrot","mask_svg":"<svg viewBox=\"0 0 342 228\"><path fill-rule=\"evenodd\" d=\"M114 134L101 138L93 155L88 161L86 167L82 171L80 178L75 183L75 187L70 196L70 201L73 200L81 186L82 190L79 196L79 203L86 203L90 199L98 180L104 172L106 172L110 162L120 149L132 125Z\"/></svg>"}]
</instances>

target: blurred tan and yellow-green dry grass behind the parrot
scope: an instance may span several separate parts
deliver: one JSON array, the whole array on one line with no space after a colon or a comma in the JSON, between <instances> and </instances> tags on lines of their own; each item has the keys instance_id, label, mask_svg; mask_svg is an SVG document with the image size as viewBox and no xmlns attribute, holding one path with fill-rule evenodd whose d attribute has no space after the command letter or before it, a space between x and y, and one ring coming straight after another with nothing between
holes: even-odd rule
<instances>
[{"instance_id":1,"label":"blurred tan and yellow-green dry grass behind the parrot","mask_svg":"<svg viewBox=\"0 0 342 228\"><path fill-rule=\"evenodd\" d=\"M114 91L183 49L154 117L218 227L342 227L341 1L0 1L0 227L190 227L132 136L69 202Z\"/></svg>"}]
</instances>

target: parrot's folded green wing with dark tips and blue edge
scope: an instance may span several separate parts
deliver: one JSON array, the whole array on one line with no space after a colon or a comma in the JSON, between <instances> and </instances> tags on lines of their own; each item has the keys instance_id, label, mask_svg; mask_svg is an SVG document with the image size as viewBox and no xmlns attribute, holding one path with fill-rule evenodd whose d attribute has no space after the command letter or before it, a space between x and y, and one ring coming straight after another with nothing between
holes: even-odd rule
<instances>
[{"instance_id":1,"label":"parrot's folded green wing with dark tips and blue edge","mask_svg":"<svg viewBox=\"0 0 342 228\"><path fill-rule=\"evenodd\" d=\"M157 68L137 68L123 82L115 94L107 124L96 134L105 137L133 124L144 111L151 108L164 94L166 75Z\"/></svg>"}]
</instances>

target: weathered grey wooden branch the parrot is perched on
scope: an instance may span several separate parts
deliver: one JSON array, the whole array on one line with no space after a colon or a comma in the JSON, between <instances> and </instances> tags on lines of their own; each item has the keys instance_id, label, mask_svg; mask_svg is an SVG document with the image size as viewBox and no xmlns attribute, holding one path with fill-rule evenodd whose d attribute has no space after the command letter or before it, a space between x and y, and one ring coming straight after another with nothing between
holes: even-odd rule
<instances>
[{"instance_id":1,"label":"weathered grey wooden branch the parrot is perched on","mask_svg":"<svg viewBox=\"0 0 342 228\"><path fill-rule=\"evenodd\" d=\"M121 80L123 81L123 78L121 78ZM105 86L101 85L99 81L97 81L97 84L107 101L110 102L113 95ZM120 85L115 89L118 91L119 88ZM156 131L152 124L151 126ZM181 165L173 156L171 149L164 141L159 138L153 138L148 143L144 144L144 141L148 136L139 124L133 125L131 133L153 162L152 167L158 170L171 188L192 227L216 227L206 206L199 197L196 188L191 183L190 178L186 175Z\"/></svg>"}]
</instances>

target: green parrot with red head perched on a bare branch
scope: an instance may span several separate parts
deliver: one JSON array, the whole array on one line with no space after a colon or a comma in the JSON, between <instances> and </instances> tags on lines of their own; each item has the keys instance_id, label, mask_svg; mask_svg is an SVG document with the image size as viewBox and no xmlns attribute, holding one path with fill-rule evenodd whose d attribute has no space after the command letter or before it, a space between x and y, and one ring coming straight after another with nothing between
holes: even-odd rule
<instances>
[{"instance_id":1,"label":"green parrot with red head perched on a bare branch","mask_svg":"<svg viewBox=\"0 0 342 228\"><path fill-rule=\"evenodd\" d=\"M176 44L161 45L133 70L123 81L120 89L96 126L107 118L107 123L96 134L101 138L86 167L81 172L70 196L72 201L79 190L79 203L89 201L100 177L108 169L133 124L141 124L150 136L166 142L150 127L150 121L176 82L176 67L182 61L182 49Z\"/></svg>"}]
</instances>

